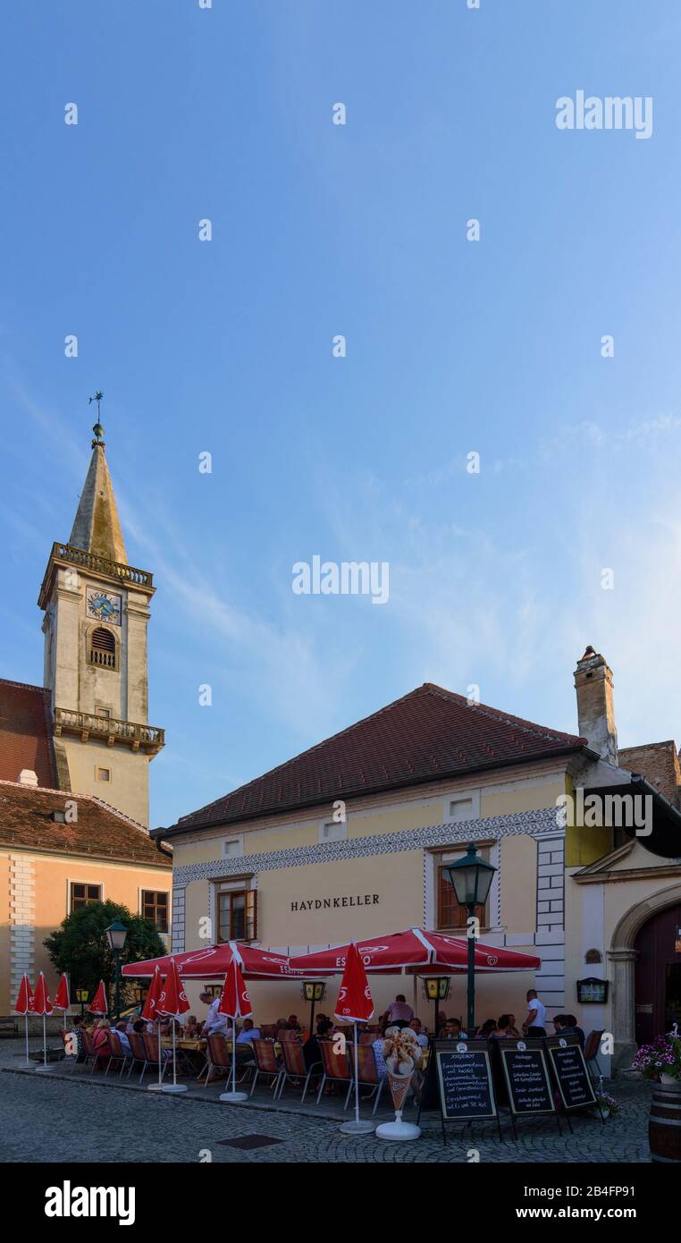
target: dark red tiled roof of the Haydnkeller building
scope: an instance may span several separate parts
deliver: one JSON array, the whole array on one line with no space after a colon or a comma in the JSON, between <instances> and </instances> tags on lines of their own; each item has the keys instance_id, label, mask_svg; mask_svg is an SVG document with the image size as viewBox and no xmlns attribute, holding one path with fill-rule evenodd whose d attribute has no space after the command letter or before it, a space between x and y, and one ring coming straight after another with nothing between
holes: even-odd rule
<instances>
[{"instance_id":1,"label":"dark red tiled roof of the Haydnkeller building","mask_svg":"<svg viewBox=\"0 0 681 1243\"><path fill-rule=\"evenodd\" d=\"M585 738L470 705L465 696L425 682L263 777L183 815L176 828L229 824L321 803L331 810L337 798L546 759L584 746Z\"/></svg>"}]
</instances>

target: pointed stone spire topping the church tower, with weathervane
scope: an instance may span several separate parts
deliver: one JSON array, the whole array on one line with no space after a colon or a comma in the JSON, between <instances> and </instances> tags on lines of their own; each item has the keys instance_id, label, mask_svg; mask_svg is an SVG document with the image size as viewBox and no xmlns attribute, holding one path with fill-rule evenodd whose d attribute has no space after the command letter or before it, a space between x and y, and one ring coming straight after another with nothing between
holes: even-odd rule
<instances>
[{"instance_id":1,"label":"pointed stone spire topping the church tower, with weathervane","mask_svg":"<svg viewBox=\"0 0 681 1243\"><path fill-rule=\"evenodd\" d=\"M82 548L83 552L94 557L106 557L108 561L117 561L127 566L128 554L104 456L102 439L104 429L99 423L102 397L103 394L97 393L94 398L91 398L91 400L97 401L97 423L92 429L94 433L92 457L68 543L72 548Z\"/></svg>"}]
</instances>

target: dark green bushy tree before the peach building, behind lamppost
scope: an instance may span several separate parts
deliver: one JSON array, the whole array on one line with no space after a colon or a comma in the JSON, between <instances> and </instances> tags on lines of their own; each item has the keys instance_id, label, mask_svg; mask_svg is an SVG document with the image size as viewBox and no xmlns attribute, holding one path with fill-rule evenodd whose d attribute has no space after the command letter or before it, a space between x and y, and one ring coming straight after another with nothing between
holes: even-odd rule
<instances>
[{"instance_id":1,"label":"dark green bushy tree before the peach building, behind lamppost","mask_svg":"<svg viewBox=\"0 0 681 1243\"><path fill-rule=\"evenodd\" d=\"M57 972L66 971L68 975L72 999L76 988L89 989L92 997L101 979L111 989L116 966L106 929L114 920L121 920L128 929L121 967L142 958L158 958L168 952L152 920L133 915L119 902L87 902L67 915L61 926L43 941ZM123 979L121 983L124 993Z\"/></svg>"}]
</instances>

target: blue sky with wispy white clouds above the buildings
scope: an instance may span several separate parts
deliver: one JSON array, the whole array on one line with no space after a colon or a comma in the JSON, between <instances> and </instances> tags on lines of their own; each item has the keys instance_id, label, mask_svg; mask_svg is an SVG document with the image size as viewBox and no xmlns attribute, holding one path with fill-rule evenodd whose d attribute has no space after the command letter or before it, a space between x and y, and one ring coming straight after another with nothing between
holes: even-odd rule
<instances>
[{"instance_id":1,"label":"blue sky with wispy white clouds above the buildings","mask_svg":"<svg viewBox=\"0 0 681 1243\"><path fill-rule=\"evenodd\" d=\"M620 743L681 741L680 42L677 0L7 9L0 675L41 681L102 388L154 824L423 681L573 731L587 643ZM578 89L652 137L558 131ZM389 602L295 595L314 553Z\"/></svg>"}]
</instances>

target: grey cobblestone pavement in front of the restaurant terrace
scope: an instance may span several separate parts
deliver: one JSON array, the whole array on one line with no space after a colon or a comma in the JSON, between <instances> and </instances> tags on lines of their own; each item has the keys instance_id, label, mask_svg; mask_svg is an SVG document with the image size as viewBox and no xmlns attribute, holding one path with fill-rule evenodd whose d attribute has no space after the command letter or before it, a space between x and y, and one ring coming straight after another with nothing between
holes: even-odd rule
<instances>
[{"instance_id":1,"label":"grey cobblestone pavement in front of the restaurant terrace","mask_svg":"<svg viewBox=\"0 0 681 1243\"><path fill-rule=\"evenodd\" d=\"M31 1042L34 1047L36 1043ZM563 1121L560 1137L554 1120L533 1119L518 1124L517 1142L507 1122L506 1142L488 1124L475 1125L465 1137L461 1126L454 1126L447 1130L445 1147L436 1115L421 1120L420 1140L391 1144L374 1134L343 1135L339 1119L314 1116L314 1106L309 1112L298 1112L293 1100L287 1110L278 1110L265 1095L263 1105L252 1109L215 1104L214 1099L170 1099L127 1090L116 1081L80 1078L80 1070L73 1079L68 1074L20 1073L21 1053L21 1042L7 1040L0 1048L2 1162L466 1162L472 1158L471 1150L480 1152L481 1162L650 1161L650 1090L640 1080L618 1080L613 1085L623 1111L605 1125L598 1117L577 1116L572 1120L574 1135L567 1132ZM280 1142L246 1151L220 1144L247 1135L266 1135Z\"/></svg>"}]
</instances>

